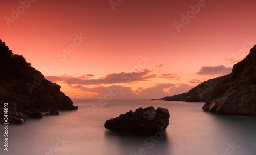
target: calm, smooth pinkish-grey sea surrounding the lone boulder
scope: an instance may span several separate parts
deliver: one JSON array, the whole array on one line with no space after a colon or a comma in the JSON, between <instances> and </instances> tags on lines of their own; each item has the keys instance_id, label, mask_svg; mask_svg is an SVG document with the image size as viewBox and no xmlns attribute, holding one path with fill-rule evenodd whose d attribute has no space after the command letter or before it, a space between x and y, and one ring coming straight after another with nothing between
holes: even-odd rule
<instances>
[{"instance_id":1,"label":"calm, smooth pinkish-grey sea surrounding the lone boulder","mask_svg":"<svg viewBox=\"0 0 256 155\"><path fill-rule=\"evenodd\" d=\"M256 154L256 117L216 115L203 112L204 103L163 100L111 100L95 114L92 105L99 100L73 101L77 111L9 125L8 151L1 127L0 154ZM139 137L104 128L106 120L148 106L169 109L166 132Z\"/></svg>"}]
</instances>

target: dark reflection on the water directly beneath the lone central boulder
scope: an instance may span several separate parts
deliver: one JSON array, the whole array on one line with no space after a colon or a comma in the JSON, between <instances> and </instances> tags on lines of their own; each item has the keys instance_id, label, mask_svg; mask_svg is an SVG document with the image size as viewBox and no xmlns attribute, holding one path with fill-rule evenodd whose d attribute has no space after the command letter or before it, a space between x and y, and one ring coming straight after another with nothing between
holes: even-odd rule
<instances>
[{"instance_id":1,"label":"dark reflection on the water directly beneath the lone central boulder","mask_svg":"<svg viewBox=\"0 0 256 155\"><path fill-rule=\"evenodd\" d=\"M153 136L135 136L106 131L105 141L119 151L117 154L171 154L166 132L158 132Z\"/></svg>"}]
</instances>

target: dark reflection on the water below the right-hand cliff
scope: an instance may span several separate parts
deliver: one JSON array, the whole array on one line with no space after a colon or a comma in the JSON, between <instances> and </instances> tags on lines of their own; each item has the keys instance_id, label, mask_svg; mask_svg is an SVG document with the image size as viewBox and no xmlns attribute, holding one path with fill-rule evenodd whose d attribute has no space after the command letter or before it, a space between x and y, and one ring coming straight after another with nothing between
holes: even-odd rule
<instances>
[{"instance_id":1,"label":"dark reflection on the water below the right-hand cliff","mask_svg":"<svg viewBox=\"0 0 256 155\"><path fill-rule=\"evenodd\" d=\"M235 154L256 154L256 117L211 115L222 140L239 146Z\"/></svg>"}]
</instances>

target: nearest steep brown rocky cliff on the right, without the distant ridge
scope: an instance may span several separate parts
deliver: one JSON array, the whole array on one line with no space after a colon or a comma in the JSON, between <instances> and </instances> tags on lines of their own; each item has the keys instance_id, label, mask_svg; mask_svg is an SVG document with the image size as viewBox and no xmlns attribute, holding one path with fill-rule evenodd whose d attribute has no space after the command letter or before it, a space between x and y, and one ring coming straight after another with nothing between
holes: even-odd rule
<instances>
[{"instance_id":1,"label":"nearest steep brown rocky cliff on the right, without the distant ridge","mask_svg":"<svg viewBox=\"0 0 256 155\"><path fill-rule=\"evenodd\" d=\"M256 115L256 45L211 88L202 108L219 114Z\"/></svg>"}]
</instances>

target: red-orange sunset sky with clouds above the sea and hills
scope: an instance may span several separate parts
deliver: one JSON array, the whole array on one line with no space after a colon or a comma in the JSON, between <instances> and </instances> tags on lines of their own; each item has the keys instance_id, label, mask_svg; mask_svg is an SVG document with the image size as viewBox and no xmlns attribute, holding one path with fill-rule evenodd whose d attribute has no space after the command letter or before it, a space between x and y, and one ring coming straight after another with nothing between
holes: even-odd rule
<instances>
[{"instance_id":1,"label":"red-orange sunset sky with clouds above the sea and hills","mask_svg":"<svg viewBox=\"0 0 256 155\"><path fill-rule=\"evenodd\" d=\"M187 92L256 44L253 0L0 4L0 39L73 99Z\"/></svg>"}]
</instances>

